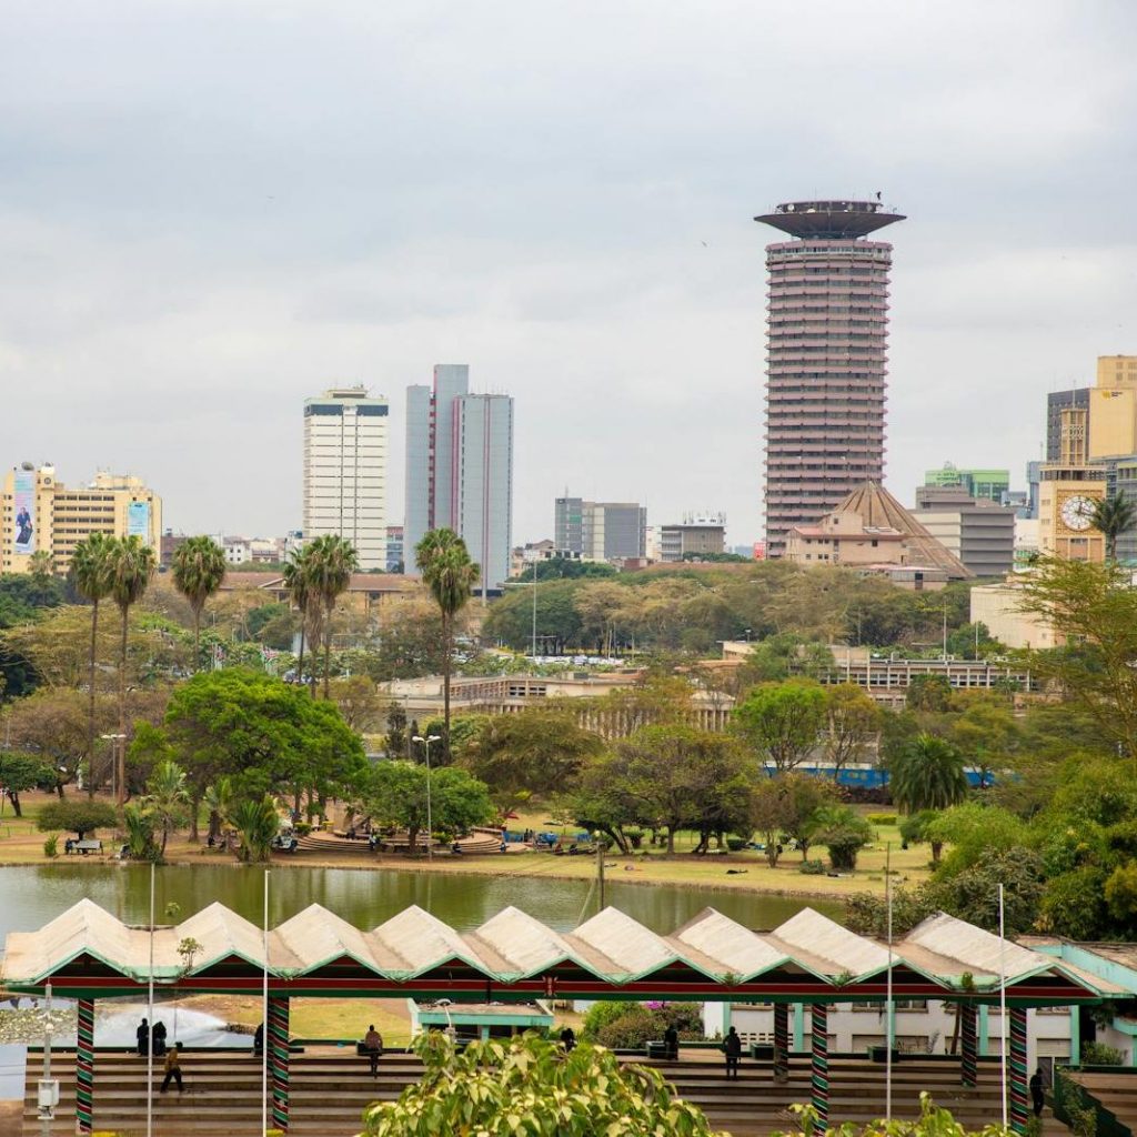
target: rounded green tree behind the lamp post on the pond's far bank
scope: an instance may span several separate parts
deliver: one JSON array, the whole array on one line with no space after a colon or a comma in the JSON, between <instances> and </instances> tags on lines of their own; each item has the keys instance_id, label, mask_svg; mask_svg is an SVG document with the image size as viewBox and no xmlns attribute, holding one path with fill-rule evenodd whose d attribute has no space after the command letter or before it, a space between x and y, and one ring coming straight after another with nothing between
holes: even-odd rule
<instances>
[{"instance_id":1,"label":"rounded green tree behind the lamp post on the pond's far bank","mask_svg":"<svg viewBox=\"0 0 1137 1137\"><path fill-rule=\"evenodd\" d=\"M428 778L430 820L435 831L464 833L493 816L485 783L465 770L442 766L428 774L416 762L381 762L372 770L364 805L376 820L407 830L412 856L418 850L418 835L426 828Z\"/></svg>"}]
</instances>

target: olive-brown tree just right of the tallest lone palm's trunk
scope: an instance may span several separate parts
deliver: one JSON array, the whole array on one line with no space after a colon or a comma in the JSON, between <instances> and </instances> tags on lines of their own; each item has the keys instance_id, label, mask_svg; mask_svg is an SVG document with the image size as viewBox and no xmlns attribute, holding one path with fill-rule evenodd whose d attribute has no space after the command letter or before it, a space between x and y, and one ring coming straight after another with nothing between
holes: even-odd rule
<instances>
[{"instance_id":1,"label":"olive-brown tree just right of the tallest lone palm's trunk","mask_svg":"<svg viewBox=\"0 0 1137 1137\"><path fill-rule=\"evenodd\" d=\"M487 719L474 738L455 748L463 765L512 807L521 795L574 789L604 740L579 727L567 708L528 707Z\"/></svg>"}]
</instances>

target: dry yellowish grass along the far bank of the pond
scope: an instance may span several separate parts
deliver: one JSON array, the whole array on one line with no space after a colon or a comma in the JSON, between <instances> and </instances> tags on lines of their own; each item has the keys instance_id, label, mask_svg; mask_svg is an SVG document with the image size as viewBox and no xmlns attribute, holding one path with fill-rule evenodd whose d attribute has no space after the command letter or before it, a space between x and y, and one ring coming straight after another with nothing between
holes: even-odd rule
<instances>
[{"instance_id":1,"label":"dry yellowish grass along the far bank of the pond","mask_svg":"<svg viewBox=\"0 0 1137 1137\"><path fill-rule=\"evenodd\" d=\"M0 815L0 865L47 864L43 854L43 840L47 835L35 830L35 816L39 810L50 800L48 795L27 794L23 796L23 819L11 815L11 806L6 804L3 815ZM880 806L865 807L865 813L879 812ZM534 829L538 831L551 828L546 822L549 819L542 812L523 813L516 820L511 820L514 830ZM565 830L570 836L574 827ZM108 838L110 835L100 835ZM882 888L886 860L890 863L894 880L901 883L919 883L929 875L927 846L915 846L910 849L901 847L899 832L895 825L877 827L877 840L862 850L857 858L857 870L840 877L806 875L799 871L800 854L787 852L782 855L777 869L766 864L765 856L756 852L731 853L727 856L695 856L691 849L697 843L692 832L681 832L675 841L675 855L665 855L662 847L646 849L641 853L623 856L609 850L605 864L611 880L629 885L674 885L679 887L698 888L714 887L738 889L741 891L773 893L785 896L840 897L853 893L874 891ZM108 848L110 841L107 841ZM60 840L60 846L63 841ZM61 850L61 849L60 849ZM824 858L823 846L811 848L812 858ZM229 854L207 850L204 845L193 845L184 835L171 838L166 852L167 861L173 864L210 864L231 862ZM60 858L61 860L61 858ZM101 858L68 858L67 863L99 864ZM281 856L274 860L274 865L282 868L329 866L343 869L406 869L413 872L445 872L449 874L490 874L518 877L548 877L550 880L591 880L596 875L596 858L587 856L558 856L547 853L511 853L508 855L489 855L471 857L437 857L433 862L425 858L408 861L404 856L376 857L366 850L357 856L321 857L316 854L300 853ZM733 870L733 871L730 871Z\"/></svg>"}]
</instances>

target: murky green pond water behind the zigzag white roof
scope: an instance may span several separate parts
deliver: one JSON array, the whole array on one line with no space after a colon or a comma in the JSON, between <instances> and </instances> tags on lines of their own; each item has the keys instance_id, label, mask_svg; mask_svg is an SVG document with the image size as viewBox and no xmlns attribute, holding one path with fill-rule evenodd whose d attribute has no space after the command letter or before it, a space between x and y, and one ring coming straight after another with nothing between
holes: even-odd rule
<instances>
[{"instance_id":1,"label":"murky green pond water behind the zigzag white roof","mask_svg":"<svg viewBox=\"0 0 1137 1137\"><path fill-rule=\"evenodd\" d=\"M146 865L35 865L0 869L0 944L9 931L42 927L84 896L127 923L144 923L150 870ZM159 921L166 904L180 919L221 901L259 923L264 871L227 865L163 868L155 872ZM739 891L609 883L609 905L657 932L671 932L708 905L749 928L775 928L808 906L840 919L841 905ZM277 869L269 878L269 922L280 923L309 904L321 904L358 928L374 928L417 904L459 931L484 923L514 905L559 931L595 914L596 893L578 880L539 874L480 877L398 870Z\"/></svg>"}]
</instances>

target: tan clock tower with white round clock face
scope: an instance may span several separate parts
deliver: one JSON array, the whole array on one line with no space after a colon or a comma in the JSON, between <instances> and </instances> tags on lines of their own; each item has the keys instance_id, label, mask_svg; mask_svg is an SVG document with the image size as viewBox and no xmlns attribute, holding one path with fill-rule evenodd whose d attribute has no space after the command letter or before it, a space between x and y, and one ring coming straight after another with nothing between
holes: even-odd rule
<instances>
[{"instance_id":1,"label":"tan clock tower with white round clock face","mask_svg":"<svg viewBox=\"0 0 1137 1137\"><path fill-rule=\"evenodd\" d=\"M1038 548L1070 561L1105 559L1105 538L1090 520L1105 497L1105 467L1088 458L1088 413L1063 407L1060 457L1041 470L1038 496Z\"/></svg>"}]
</instances>

